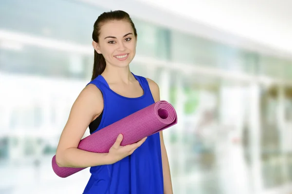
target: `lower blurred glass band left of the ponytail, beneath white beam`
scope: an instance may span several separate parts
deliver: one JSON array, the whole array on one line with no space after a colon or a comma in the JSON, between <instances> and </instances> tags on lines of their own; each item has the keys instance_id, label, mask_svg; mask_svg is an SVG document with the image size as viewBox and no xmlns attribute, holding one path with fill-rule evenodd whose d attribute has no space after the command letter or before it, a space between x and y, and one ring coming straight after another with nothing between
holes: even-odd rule
<instances>
[{"instance_id":1,"label":"lower blurred glass band left of the ponytail, beneath white beam","mask_svg":"<svg viewBox=\"0 0 292 194\"><path fill-rule=\"evenodd\" d=\"M85 58L82 55L32 46L25 46L21 51L0 49L0 70L83 79L86 77L84 67L88 65Z\"/></svg>"}]
</instances>

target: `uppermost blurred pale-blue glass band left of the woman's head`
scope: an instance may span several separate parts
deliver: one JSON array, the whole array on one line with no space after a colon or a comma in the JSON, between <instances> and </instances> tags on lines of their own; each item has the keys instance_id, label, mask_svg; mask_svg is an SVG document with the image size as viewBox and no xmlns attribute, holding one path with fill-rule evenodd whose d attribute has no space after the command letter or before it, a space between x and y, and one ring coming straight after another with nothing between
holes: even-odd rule
<instances>
[{"instance_id":1,"label":"uppermost blurred pale-blue glass band left of the woman's head","mask_svg":"<svg viewBox=\"0 0 292 194\"><path fill-rule=\"evenodd\" d=\"M2 0L0 26L29 35L91 44L93 24L103 11L68 0Z\"/></svg>"}]
</instances>

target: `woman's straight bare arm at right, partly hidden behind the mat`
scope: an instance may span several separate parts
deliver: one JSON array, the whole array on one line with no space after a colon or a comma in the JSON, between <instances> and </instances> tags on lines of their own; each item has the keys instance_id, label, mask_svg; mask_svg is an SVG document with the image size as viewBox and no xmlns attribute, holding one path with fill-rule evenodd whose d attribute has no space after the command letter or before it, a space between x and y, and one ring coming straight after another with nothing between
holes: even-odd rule
<instances>
[{"instance_id":1,"label":"woman's straight bare arm at right, partly hidden behind the mat","mask_svg":"<svg viewBox=\"0 0 292 194\"><path fill-rule=\"evenodd\" d=\"M152 96L154 98L154 101L157 102L160 100L160 91L159 86L154 81L147 78L147 81L149 83L149 87L152 93ZM164 139L163 139L163 131L160 131L160 144L161 144L161 155L162 155L162 166L163 166L163 177L164 177L164 194L173 194L172 190L172 182L171 182L171 176L170 176L170 168L169 168L169 162L168 157L166 153L166 148L164 145Z\"/></svg>"}]
</instances>

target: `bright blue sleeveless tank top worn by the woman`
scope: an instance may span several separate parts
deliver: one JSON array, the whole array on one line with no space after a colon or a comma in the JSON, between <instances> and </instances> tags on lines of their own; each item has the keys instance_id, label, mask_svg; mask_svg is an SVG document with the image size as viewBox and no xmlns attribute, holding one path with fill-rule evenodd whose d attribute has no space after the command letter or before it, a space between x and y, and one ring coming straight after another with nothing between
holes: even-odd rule
<instances>
[{"instance_id":1,"label":"bright blue sleeveless tank top worn by the woman","mask_svg":"<svg viewBox=\"0 0 292 194\"><path fill-rule=\"evenodd\" d=\"M104 110L96 132L154 103L146 78L136 76L144 94L123 97L110 89L99 75L94 84L103 94ZM163 170L159 133L149 136L131 155L109 165L92 166L83 194L163 194Z\"/></svg>"}]
</instances>

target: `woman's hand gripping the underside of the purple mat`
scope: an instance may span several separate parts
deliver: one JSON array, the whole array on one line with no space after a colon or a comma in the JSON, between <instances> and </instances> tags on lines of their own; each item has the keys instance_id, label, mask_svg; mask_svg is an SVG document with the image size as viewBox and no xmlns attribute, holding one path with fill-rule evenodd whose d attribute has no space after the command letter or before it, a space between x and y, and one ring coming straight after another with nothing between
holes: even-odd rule
<instances>
[{"instance_id":1,"label":"woman's hand gripping the underside of the purple mat","mask_svg":"<svg viewBox=\"0 0 292 194\"><path fill-rule=\"evenodd\" d=\"M131 155L139 146L141 146L147 137L143 138L137 143L130 144L127 146L121 146L121 142L123 140L123 135L119 134L116 142L111 146L108 156L110 158L111 163L118 162L123 158Z\"/></svg>"}]
</instances>

